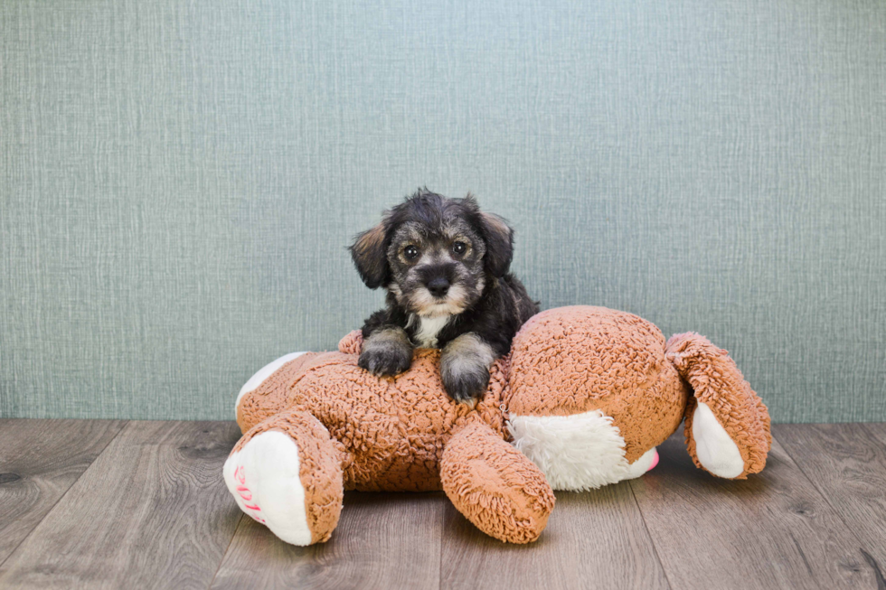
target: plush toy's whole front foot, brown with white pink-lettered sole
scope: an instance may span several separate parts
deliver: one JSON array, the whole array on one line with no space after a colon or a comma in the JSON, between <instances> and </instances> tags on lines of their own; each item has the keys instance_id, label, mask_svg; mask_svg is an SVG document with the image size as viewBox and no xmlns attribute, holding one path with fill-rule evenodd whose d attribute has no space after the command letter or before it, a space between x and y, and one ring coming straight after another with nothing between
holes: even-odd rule
<instances>
[{"instance_id":1,"label":"plush toy's whole front foot, brown with white pink-lettered sole","mask_svg":"<svg viewBox=\"0 0 886 590\"><path fill-rule=\"evenodd\" d=\"M228 491L253 520L293 545L327 540L338 523L340 456L315 417L270 418L250 430L224 464Z\"/></svg>"}]
</instances>

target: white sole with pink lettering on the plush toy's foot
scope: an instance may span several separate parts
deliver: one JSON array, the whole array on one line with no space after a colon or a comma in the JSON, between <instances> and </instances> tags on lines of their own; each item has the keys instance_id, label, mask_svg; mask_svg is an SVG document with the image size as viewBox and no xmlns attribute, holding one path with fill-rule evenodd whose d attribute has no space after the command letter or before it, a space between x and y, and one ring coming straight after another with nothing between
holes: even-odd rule
<instances>
[{"instance_id":1,"label":"white sole with pink lettering on the plush toy's foot","mask_svg":"<svg viewBox=\"0 0 886 590\"><path fill-rule=\"evenodd\" d=\"M254 436L228 457L223 474L240 510L287 543L311 544L298 445L292 438L278 430Z\"/></svg>"}]
</instances>

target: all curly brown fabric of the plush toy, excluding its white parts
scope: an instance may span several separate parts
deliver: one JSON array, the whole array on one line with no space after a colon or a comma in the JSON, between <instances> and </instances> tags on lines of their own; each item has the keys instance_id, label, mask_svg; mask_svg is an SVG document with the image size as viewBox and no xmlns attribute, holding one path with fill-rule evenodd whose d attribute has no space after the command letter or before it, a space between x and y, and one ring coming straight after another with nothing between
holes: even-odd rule
<instances>
[{"instance_id":1,"label":"all curly brown fabric of the plush toy, excluding its white parts","mask_svg":"<svg viewBox=\"0 0 886 590\"><path fill-rule=\"evenodd\" d=\"M306 441L301 473L306 490L318 491L307 502L316 540L328 538L340 510L337 488L330 492L319 483L325 478L344 489L445 489L457 509L490 535L515 543L537 538L553 496L542 472L505 442L505 417L511 415L601 410L624 438L629 463L664 442L685 415L687 444L698 464L691 436L697 398L739 446L741 477L766 462L767 408L735 363L697 334L665 343L655 325L633 314L577 305L535 315L514 337L509 355L495 362L485 396L473 408L446 395L439 351L419 349L406 372L376 377L357 366L361 342L354 331L339 351L287 362L244 394L237 408L238 424L249 432L235 450L257 428L286 432L299 451Z\"/></svg>"}]
</instances>

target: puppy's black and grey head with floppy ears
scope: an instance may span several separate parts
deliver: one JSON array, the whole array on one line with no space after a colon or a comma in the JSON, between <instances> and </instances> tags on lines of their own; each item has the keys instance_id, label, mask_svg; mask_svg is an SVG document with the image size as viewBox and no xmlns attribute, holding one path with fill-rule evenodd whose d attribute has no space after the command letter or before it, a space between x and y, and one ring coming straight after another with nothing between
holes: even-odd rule
<instances>
[{"instance_id":1,"label":"puppy's black and grey head with floppy ears","mask_svg":"<svg viewBox=\"0 0 886 590\"><path fill-rule=\"evenodd\" d=\"M513 235L470 194L447 199L425 189L386 211L350 249L366 286L385 286L410 313L436 317L465 311L507 273Z\"/></svg>"}]
</instances>

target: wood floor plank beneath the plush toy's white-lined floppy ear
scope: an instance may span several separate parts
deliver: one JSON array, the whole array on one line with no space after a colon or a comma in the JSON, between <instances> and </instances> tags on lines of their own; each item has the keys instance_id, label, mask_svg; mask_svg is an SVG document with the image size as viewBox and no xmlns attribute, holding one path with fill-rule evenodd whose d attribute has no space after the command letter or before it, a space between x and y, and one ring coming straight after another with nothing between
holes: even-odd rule
<instances>
[{"instance_id":1,"label":"wood floor plank beneath the plush toy's white-lined floppy ear","mask_svg":"<svg viewBox=\"0 0 886 590\"><path fill-rule=\"evenodd\" d=\"M858 538L778 441L744 481L697 469L682 429L659 451L631 486L674 587L877 587Z\"/></svg>"}]
</instances>

